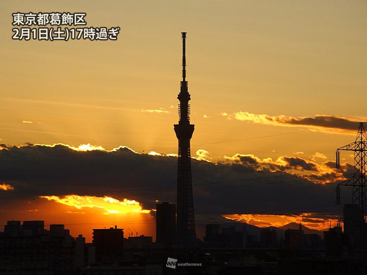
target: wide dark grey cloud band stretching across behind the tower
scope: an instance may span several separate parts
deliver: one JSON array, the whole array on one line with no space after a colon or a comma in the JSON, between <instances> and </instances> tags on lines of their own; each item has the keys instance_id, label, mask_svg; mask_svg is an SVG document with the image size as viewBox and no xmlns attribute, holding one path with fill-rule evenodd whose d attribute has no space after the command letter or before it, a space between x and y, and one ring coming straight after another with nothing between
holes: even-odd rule
<instances>
[{"instance_id":1,"label":"wide dark grey cloud band stretching across behind the tower","mask_svg":"<svg viewBox=\"0 0 367 275\"><path fill-rule=\"evenodd\" d=\"M14 189L0 190L0 205L9 203L6 198L63 194L127 198L141 202L144 209L155 208L155 200L176 201L176 157L138 154L126 147L109 152L81 152L63 145L3 147L0 182ZM315 184L286 172L317 172L318 167L310 161L283 157L285 164L280 169L274 163L265 167L255 157L238 156L239 161L220 163L192 160L197 214L296 214L335 201L335 184Z\"/></svg>"}]
</instances>

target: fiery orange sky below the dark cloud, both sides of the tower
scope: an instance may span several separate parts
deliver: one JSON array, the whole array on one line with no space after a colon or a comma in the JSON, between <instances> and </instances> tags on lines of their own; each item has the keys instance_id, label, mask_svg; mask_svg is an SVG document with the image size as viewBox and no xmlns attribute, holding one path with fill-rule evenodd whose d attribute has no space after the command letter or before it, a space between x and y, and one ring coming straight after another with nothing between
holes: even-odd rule
<instances>
[{"instance_id":1,"label":"fiery orange sky below the dark cloud, both sides of the tower","mask_svg":"<svg viewBox=\"0 0 367 275\"><path fill-rule=\"evenodd\" d=\"M92 230L110 228L117 225L124 229L124 237L127 238L131 232L136 236L144 234L153 236L155 240L155 214L151 209L141 209L136 206L137 202L130 207L121 205L113 198L75 196L69 195L61 199L59 197L34 198L22 201L10 211L2 212L2 218L10 221L12 219L27 221L40 219L45 221L45 229L50 224L65 224L65 229L76 237L83 234L87 242L92 241ZM20 210L21 209L21 210ZM225 214L223 217L232 221L247 223L257 227L282 227L289 223L302 223L310 229L320 231L328 230L336 226L337 216L329 218L315 217L314 213L302 213L300 215L268 215L268 214ZM1 227L3 230L3 227ZM198 234L202 239L203 236Z\"/></svg>"}]
</instances>

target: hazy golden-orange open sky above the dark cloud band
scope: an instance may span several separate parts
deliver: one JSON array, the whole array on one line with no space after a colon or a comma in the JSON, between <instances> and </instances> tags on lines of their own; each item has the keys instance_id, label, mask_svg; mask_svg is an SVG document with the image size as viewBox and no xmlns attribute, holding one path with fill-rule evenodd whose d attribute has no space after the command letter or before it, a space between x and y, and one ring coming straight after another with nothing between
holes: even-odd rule
<instances>
[{"instance_id":1,"label":"hazy golden-orange open sky above the dark cloud band","mask_svg":"<svg viewBox=\"0 0 367 275\"><path fill-rule=\"evenodd\" d=\"M364 120L366 9L344 1L5 1L0 139L176 153L180 32L186 31L194 150L215 159L297 151L332 158L348 143L347 133L302 132L310 128L222 114ZM11 14L17 11L83 11L88 26L121 31L117 41L15 41ZM273 134L284 139L263 137Z\"/></svg>"}]
</instances>

